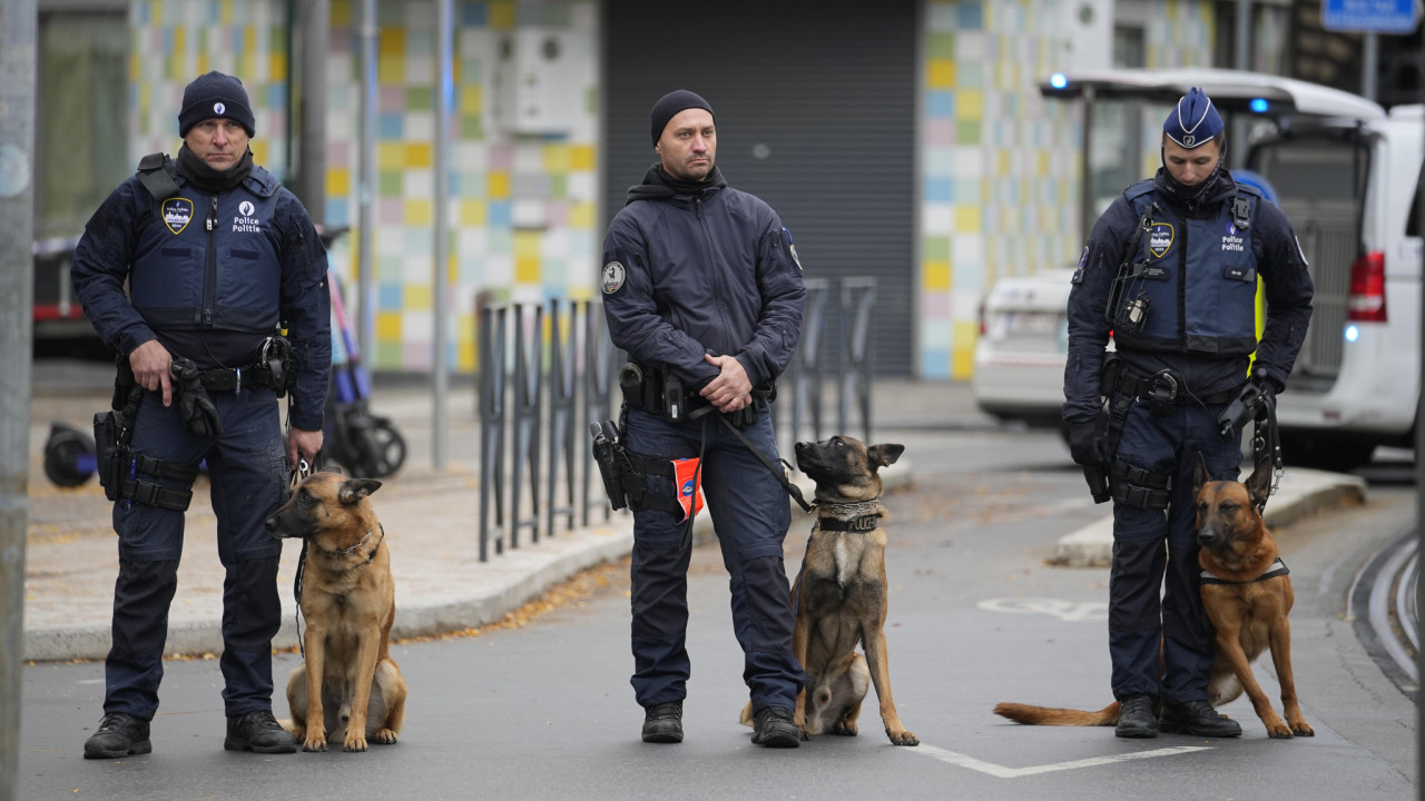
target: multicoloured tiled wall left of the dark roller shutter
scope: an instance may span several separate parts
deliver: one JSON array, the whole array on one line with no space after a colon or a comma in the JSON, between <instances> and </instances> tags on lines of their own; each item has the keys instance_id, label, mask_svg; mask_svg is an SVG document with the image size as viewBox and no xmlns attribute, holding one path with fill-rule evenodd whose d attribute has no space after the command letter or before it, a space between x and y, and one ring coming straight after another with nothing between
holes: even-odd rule
<instances>
[{"instance_id":1,"label":"multicoloured tiled wall left of the dark roller shutter","mask_svg":"<svg viewBox=\"0 0 1425 801\"><path fill-rule=\"evenodd\" d=\"M182 87L209 68L239 76L252 94L258 162L286 168L286 4L278 0L141 0L134 4L135 154L177 141ZM455 98L447 224L447 365L475 369L477 294L499 299L587 298L597 261L597 3L455 3ZM359 3L332 0L328 50L326 222L358 219ZM365 308L375 369L429 371L435 341L436 3L378 3L378 145L372 292ZM563 123L530 133L496 118L497 74L514 31L567 34ZM540 40L542 41L542 40ZM523 41L527 44L527 41ZM152 53L164 53L154 58ZM507 64L509 61L506 61ZM137 155L135 155L137 160ZM356 232L332 248L356 306Z\"/></svg>"}]
</instances>

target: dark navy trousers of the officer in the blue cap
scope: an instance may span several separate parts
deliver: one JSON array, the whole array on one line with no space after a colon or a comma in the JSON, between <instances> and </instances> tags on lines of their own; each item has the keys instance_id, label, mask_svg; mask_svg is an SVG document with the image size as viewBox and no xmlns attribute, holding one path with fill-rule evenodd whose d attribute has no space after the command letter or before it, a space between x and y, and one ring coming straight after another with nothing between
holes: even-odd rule
<instances>
[{"instance_id":1,"label":"dark navy trousers of the officer in the blue cap","mask_svg":"<svg viewBox=\"0 0 1425 801\"><path fill-rule=\"evenodd\" d=\"M1237 479L1241 438L1220 439L1223 408L1183 403L1153 416L1134 403L1124 420L1117 459L1170 475L1173 492L1166 512L1113 505L1109 654L1119 700L1140 693L1170 704L1207 700L1213 629L1198 594L1193 472L1201 453L1214 480Z\"/></svg>"}]
</instances>

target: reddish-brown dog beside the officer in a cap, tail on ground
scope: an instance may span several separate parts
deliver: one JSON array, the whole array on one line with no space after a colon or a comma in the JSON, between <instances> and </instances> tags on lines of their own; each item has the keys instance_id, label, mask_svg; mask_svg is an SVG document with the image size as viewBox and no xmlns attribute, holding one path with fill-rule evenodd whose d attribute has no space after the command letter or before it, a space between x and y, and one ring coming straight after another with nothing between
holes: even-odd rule
<instances>
[{"instance_id":1,"label":"reddish-brown dog beside the officer in a cap, tail on ground","mask_svg":"<svg viewBox=\"0 0 1425 801\"><path fill-rule=\"evenodd\" d=\"M1258 462L1245 482L1214 482L1197 459L1197 562L1203 569L1203 607L1216 630L1216 658L1207 686L1208 703L1220 707L1245 688L1257 717L1275 738L1312 737L1297 701L1291 673L1291 576L1277 563L1277 540L1261 522L1260 509L1271 492L1271 463ZM1274 569L1275 567L1275 569ZM1281 681L1287 723L1271 708L1257 684L1251 661L1271 648ZM1054 710L1026 704L999 704L995 714L1017 723L1042 725L1114 725L1119 703L1099 711Z\"/></svg>"}]
</instances>

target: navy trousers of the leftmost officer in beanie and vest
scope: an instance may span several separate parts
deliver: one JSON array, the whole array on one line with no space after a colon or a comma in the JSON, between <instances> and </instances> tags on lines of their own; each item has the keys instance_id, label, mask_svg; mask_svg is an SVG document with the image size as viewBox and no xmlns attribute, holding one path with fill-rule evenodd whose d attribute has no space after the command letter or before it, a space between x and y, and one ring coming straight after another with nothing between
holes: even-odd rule
<instances>
[{"instance_id":1,"label":"navy trousers of the leftmost officer in beanie and vest","mask_svg":"<svg viewBox=\"0 0 1425 801\"><path fill-rule=\"evenodd\" d=\"M228 715L272 708L272 637L282 623L276 569L282 542L262 522L286 497L289 470L276 395L271 388L209 392L221 436L197 436L164 408L161 392L138 406L134 453L178 465L208 462L218 519L222 583L224 707ZM144 476L171 489L182 482ZM121 499L114 503L118 580L114 583L113 646L104 663L104 711L151 720L158 710L168 609L178 587L184 512Z\"/></svg>"}]
</instances>

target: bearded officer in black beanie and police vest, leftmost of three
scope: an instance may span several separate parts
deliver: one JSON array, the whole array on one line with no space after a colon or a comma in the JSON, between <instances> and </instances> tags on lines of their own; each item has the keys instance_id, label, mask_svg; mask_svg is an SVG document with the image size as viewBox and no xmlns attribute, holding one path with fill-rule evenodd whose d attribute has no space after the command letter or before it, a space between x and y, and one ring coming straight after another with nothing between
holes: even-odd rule
<instances>
[{"instance_id":1,"label":"bearded officer in black beanie and police vest, leftmost of three","mask_svg":"<svg viewBox=\"0 0 1425 801\"><path fill-rule=\"evenodd\" d=\"M177 160L144 157L90 218L74 252L76 294L120 355L114 409L137 399L128 452L105 485L117 496L118 580L104 718L86 758L152 750L148 724L158 710L184 510L204 460L227 569L224 748L296 750L272 715L282 544L262 520L285 500L288 469L314 462L322 448L331 296L312 219L252 162L255 133L242 83L200 76L178 111Z\"/></svg>"}]
</instances>

